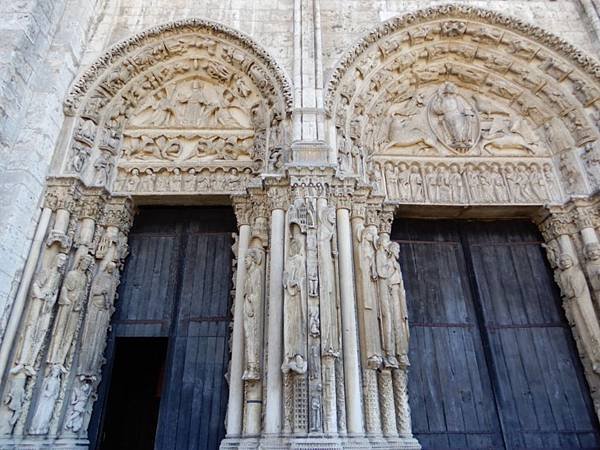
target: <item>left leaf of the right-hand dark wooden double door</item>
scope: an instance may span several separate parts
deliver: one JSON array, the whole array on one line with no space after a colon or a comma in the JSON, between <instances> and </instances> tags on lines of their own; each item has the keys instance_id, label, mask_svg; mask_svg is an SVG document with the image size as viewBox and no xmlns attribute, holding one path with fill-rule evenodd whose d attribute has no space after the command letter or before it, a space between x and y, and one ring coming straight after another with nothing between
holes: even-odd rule
<instances>
[{"instance_id":1,"label":"left leaf of the right-hand dark wooden double door","mask_svg":"<svg viewBox=\"0 0 600 450\"><path fill-rule=\"evenodd\" d=\"M409 300L413 430L425 448L502 448L460 239L436 225L394 233Z\"/></svg>"}]
</instances>

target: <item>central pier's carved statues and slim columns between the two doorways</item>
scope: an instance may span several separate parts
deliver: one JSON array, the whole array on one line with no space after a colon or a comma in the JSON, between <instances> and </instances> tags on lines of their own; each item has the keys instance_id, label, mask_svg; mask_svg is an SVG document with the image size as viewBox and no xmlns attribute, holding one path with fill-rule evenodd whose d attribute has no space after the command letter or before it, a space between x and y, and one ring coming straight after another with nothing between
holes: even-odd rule
<instances>
[{"instance_id":1,"label":"central pier's carved statues and slim columns between the two doorways","mask_svg":"<svg viewBox=\"0 0 600 450\"><path fill-rule=\"evenodd\" d=\"M324 176L326 175L326 176ZM284 264L283 430L346 430L336 211L329 174L295 169Z\"/></svg>"}]
</instances>

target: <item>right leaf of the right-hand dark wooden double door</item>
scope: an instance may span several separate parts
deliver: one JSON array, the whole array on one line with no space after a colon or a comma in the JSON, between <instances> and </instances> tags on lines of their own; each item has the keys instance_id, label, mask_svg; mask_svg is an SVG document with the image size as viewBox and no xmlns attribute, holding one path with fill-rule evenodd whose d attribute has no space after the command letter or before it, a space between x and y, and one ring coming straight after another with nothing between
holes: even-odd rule
<instances>
[{"instance_id":1,"label":"right leaf of the right-hand dark wooden double door","mask_svg":"<svg viewBox=\"0 0 600 450\"><path fill-rule=\"evenodd\" d=\"M597 448L596 419L560 293L533 226L519 227L517 233L472 224L467 234L507 445Z\"/></svg>"}]
</instances>

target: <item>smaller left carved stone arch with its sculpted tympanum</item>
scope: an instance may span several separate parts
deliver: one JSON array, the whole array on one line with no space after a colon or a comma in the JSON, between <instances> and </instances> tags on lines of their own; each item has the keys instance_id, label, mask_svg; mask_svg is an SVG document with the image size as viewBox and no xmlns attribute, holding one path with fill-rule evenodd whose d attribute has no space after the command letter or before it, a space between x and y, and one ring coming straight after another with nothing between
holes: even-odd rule
<instances>
[{"instance_id":1,"label":"smaller left carved stone arch with its sculpted tympanum","mask_svg":"<svg viewBox=\"0 0 600 450\"><path fill-rule=\"evenodd\" d=\"M241 193L286 161L283 70L249 38L200 20L118 44L75 83L67 173L127 193Z\"/></svg>"}]
</instances>

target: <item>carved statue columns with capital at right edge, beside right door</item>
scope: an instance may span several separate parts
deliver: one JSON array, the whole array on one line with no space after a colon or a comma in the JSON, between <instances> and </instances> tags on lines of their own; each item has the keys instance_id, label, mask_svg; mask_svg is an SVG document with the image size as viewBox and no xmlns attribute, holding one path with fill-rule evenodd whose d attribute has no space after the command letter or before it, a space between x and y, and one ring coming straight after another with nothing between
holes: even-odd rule
<instances>
[{"instance_id":1,"label":"carved statue columns with capital at right edge, beside right door","mask_svg":"<svg viewBox=\"0 0 600 450\"><path fill-rule=\"evenodd\" d=\"M600 417L600 323L592 300L590 276L596 270L592 263L595 265L599 258L595 254L598 251L597 237L592 234L590 211L571 206L551 210L550 215L540 223L540 229L546 241L554 278L562 293L565 315L573 327L596 413ZM588 259L587 264L584 254ZM590 276L589 283L584 269Z\"/></svg>"}]
</instances>

